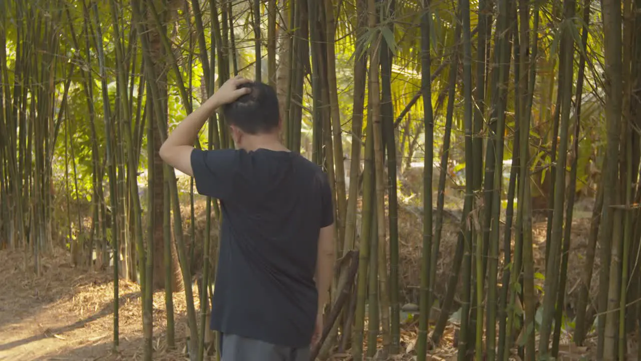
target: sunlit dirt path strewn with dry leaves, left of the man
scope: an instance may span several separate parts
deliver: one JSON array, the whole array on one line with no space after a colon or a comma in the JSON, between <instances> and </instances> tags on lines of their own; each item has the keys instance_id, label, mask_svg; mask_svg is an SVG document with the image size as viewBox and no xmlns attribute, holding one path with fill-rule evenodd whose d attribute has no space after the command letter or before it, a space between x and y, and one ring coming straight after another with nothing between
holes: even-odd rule
<instances>
[{"instance_id":1,"label":"sunlit dirt path strewn with dry leaves, left of the man","mask_svg":"<svg viewBox=\"0 0 641 361\"><path fill-rule=\"evenodd\" d=\"M65 260L64 251L55 251L42 260L42 276L36 277L30 269L24 271L22 252L0 251L0 360L142 358L138 286L120 281L120 347L114 353L112 276L73 269ZM174 297L178 316L184 312L181 296ZM154 295L154 360L184 360L179 353L165 351L160 342L165 324L162 297ZM177 328L179 339L184 335L181 322Z\"/></svg>"}]
</instances>

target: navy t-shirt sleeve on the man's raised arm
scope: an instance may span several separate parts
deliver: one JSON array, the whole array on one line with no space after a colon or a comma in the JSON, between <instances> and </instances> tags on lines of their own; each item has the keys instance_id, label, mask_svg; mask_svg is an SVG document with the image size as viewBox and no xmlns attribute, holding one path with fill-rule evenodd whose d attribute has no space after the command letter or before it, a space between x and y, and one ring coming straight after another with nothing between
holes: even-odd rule
<instances>
[{"instance_id":1,"label":"navy t-shirt sleeve on the man's raised arm","mask_svg":"<svg viewBox=\"0 0 641 361\"><path fill-rule=\"evenodd\" d=\"M237 158L238 153L233 149L194 149L191 162L198 193L220 200L231 197L238 166Z\"/></svg>"}]
</instances>

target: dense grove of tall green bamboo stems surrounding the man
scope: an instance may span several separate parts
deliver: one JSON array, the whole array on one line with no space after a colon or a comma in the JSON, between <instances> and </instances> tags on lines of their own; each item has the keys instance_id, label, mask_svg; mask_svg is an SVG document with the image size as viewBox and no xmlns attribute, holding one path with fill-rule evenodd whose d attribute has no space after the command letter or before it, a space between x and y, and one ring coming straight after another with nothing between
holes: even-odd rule
<instances>
[{"instance_id":1,"label":"dense grove of tall green bamboo stems surrounding the man","mask_svg":"<svg viewBox=\"0 0 641 361\"><path fill-rule=\"evenodd\" d=\"M406 351L397 184L414 157L417 360L452 319L458 360L550 360L563 342L641 359L627 346L641 333L641 0L0 0L0 43L0 249L24 249L38 276L54 247L77 267L111 267L115 349L119 279L141 285L146 360L158 290L163 342L185 342L192 360L215 349L205 300L219 204L206 199L197 233L194 183L158 149L240 74L276 87L285 144L333 180L339 261L314 358ZM233 146L221 115L196 146ZM462 209L445 255L453 176ZM575 200L590 187L584 269L570 285ZM444 256L453 267L437 293ZM176 335L175 292L188 337Z\"/></svg>"}]
</instances>

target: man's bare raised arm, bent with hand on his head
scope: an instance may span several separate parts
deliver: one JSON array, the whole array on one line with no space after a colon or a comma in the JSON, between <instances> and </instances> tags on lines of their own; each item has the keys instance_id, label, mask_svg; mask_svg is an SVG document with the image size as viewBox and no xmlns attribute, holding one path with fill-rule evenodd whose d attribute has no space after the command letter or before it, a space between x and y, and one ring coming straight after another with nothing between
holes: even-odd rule
<instances>
[{"instance_id":1,"label":"man's bare raised arm, bent with hand on his head","mask_svg":"<svg viewBox=\"0 0 641 361\"><path fill-rule=\"evenodd\" d=\"M198 132L217 108L237 100L240 96L249 94L251 89L238 88L248 82L251 80L242 78L242 76L229 79L203 105L183 119L160 147L162 160L177 170L193 176L191 154Z\"/></svg>"}]
</instances>

